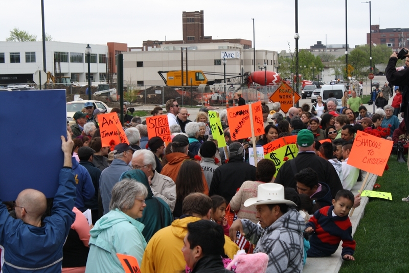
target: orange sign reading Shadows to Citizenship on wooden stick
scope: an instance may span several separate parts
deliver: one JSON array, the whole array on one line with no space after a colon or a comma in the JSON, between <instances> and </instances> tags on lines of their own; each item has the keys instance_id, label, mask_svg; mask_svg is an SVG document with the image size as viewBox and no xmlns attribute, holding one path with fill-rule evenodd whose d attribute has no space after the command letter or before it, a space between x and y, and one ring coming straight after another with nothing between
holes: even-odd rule
<instances>
[{"instance_id":1,"label":"orange sign reading Shadows to Citizenship on wooden stick","mask_svg":"<svg viewBox=\"0 0 409 273\"><path fill-rule=\"evenodd\" d=\"M382 176L392 151L393 142L357 131L348 164Z\"/></svg>"}]
</instances>

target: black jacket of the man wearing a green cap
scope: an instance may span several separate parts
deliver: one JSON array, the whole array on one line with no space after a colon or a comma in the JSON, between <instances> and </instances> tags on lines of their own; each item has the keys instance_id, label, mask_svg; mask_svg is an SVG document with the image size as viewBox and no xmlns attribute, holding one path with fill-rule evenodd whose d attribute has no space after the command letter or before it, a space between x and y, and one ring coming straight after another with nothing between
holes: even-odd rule
<instances>
[{"instance_id":1,"label":"black jacket of the man wearing a green cap","mask_svg":"<svg viewBox=\"0 0 409 273\"><path fill-rule=\"evenodd\" d=\"M291 161L296 163L297 170L292 169ZM308 167L317 173L318 181L323 181L328 184L331 189L332 198L335 198L336 193L343 189L334 166L324 158L317 156L314 152L300 152L294 159L285 162L283 166L281 166L274 183L297 190L297 182L296 179L294 179L294 174Z\"/></svg>"}]
</instances>

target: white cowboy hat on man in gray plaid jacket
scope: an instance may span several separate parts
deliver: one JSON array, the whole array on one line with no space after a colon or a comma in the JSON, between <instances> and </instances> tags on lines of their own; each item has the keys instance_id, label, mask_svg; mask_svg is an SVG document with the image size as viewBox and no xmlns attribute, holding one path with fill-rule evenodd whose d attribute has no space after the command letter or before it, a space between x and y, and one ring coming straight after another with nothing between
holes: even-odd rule
<instances>
[{"instance_id":1,"label":"white cowboy hat on man in gray plaid jacket","mask_svg":"<svg viewBox=\"0 0 409 273\"><path fill-rule=\"evenodd\" d=\"M259 185L257 197L249 198L244 202L244 207L258 204L289 204L297 207L296 203L284 198L284 187L280 184L265 183Z\"/></svg>"}]
</instances>

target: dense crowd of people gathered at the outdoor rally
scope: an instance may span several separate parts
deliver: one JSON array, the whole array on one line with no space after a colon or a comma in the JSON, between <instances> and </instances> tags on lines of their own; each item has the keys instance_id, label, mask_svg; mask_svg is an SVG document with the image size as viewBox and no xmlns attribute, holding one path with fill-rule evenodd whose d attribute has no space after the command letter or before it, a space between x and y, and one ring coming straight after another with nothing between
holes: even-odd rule
<instances>
[{"instance_id":1,"label":"dense crowd of people gathered at the outdoor rally","mask_svg":"<svg viewBox=\"0 0 409 273\"><path fill-rule=\"evenodd\" d=\"M87 102L61 137L55 197L27 189L0 204L3 271L121 272L117 254L126 254L144 273L301 272L307 257L330 256L340 241L342 258L354 260L348 213L360 204L351 190L362 172L347 163L355 134L381 127L390 130L386 139L407 141L387 87L375 88L373 113L355 91L339 112L336 100L320 96L288 115L279 103L263 103L256 146L297 135L297 156L279 170L267 159L249 164L251 144L232 141L225 109L227 147L213 138L207 108L191 119L176 99L165 105L170 143L149 139L146 123L124 107L129 144L102 147L98 116L106 110ZM163 113L160 106L151 112ZM237 220L229 223L226 214ZM240 237L253 245L244 254Z\"/></svg>"}]
</instances>

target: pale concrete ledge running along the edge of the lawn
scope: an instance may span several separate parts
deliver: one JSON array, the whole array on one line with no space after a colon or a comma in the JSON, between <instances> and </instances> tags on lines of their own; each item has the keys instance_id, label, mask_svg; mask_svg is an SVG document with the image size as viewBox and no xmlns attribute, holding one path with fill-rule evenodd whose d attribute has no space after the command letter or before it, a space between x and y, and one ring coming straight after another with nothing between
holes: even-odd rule
<instances>
[{"instance_id":1,"label":"pale concrete ledge running along the edge of the lawn","mask_svg":"<svg viewBox=\"0 0 409 273\"><path fill-rule=\"evenodd\" d=\"M352 189L352 192L354 193L354 195L356 195L358 191L360 190L362 183L363 183L363 179L365 179L366 175L367 173L363 172L362 181L358 182L355 185L355 187ZM376 183L377 178L378 178L377 175L370 173L368 177L367 186L365 187L364 190L372 190L374 184ZM360 219L362 219L363 217L363 213L365 212L365 206L368 203L368 199L369 199L368 197L362 197L360 206L354 210L352 217L350 216L351 223L352 223L352 236L355 233L356 227L358 226ZM316 272L336 273L338 272L339 268L341 267L344 261L341 257L341 252L342 252L342 242L339 243L339 247L337 251L334 254L332 254L330 257L307 258L307 262L304 265L303 273L316 273Z\"/></svg>"}]
</instances>

